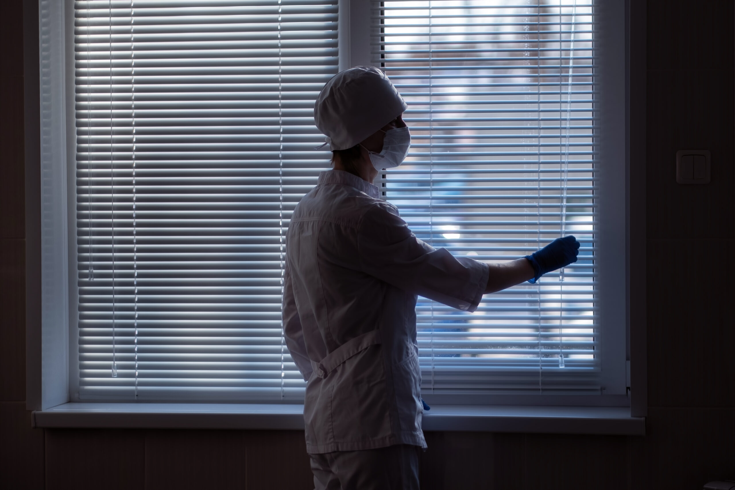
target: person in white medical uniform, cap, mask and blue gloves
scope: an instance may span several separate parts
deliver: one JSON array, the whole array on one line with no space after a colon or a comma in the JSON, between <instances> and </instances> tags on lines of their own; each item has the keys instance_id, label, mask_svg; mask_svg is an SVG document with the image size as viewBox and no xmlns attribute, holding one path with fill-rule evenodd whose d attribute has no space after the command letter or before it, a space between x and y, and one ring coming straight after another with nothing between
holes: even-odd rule
<instances>
[{"instance_id":1,"label":"person in white medical uniform, cap, mask and blue gloves","mask_svg":"<svg viewBox=\"0 0 735 490\"><path fill-rule=\"evenodd\" d=\"M286 236L286 345L304 379L306 450L316 489L418 489L424 406L417 295L475 311L482 295L576 262L574 237L503 264L417 239L373 179L401 165L406 103L382 71L337 73L314 118L334 170L296 206Z\"/></svg>"}]
</instances>

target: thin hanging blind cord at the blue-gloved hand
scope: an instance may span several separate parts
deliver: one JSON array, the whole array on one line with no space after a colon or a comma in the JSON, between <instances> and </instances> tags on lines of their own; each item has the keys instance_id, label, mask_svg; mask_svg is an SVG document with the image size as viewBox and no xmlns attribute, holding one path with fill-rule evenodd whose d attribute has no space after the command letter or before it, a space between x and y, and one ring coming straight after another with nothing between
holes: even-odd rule
<instances>
[{"instance_id":1,"label":"thin hanging blind cord at the blue-gloved hand","mask_svg":"<svg viewBox=\"0 0 735 490\"><path fill-rule=\"evenodd\" d=\"M570 139L570 121L572 116L572 76L574 68L574 26L576 24L577 0L572 5L572 27L570 29L569 40L569 73L567 74L567 138L564 144L564 167L562 170L562 237L567 234L567 181L569 179L569 139ZM559 59L562 57L562 7L559 6ZM562 63L559 62L559 66ZM559 82L562 82L561 73ZM559 97L562 91L559 90ZM562 104L559 104L561 109ZM559 367L564 367L564 267L559 270Z\"/></svg>"}]
</instances>

